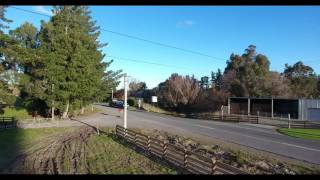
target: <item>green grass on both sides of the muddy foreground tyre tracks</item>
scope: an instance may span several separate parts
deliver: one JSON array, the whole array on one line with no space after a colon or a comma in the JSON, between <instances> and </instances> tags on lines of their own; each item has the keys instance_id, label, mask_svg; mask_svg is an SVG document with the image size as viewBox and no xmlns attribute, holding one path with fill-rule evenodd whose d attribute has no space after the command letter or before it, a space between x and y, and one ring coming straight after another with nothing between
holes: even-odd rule
<instances>
[{"instance_id":1,"label":"green grass on both sides of the muddy foreground tyre tracks","mask_svg":"<svg viewBox=\"0 0 320 180\"><path fill-rule=\"evenodd\" d=\"M38 129L9 129L0 131L0 172L5 172L6 167L15 158L30 148L37 145L42 138L54 138L55 134L71 132L77 128L38 128ZM110 129L104 129L110 131ZM77 144L75 142L75 144ZM73 146L74 144L71 144ZM126 144L119 143L113 136L93 134L86 141L86 151L82 152L81 161L87 162L90 174L177 174L166 165L151 160L134 151ZM81 152L81 151L80 151ZM72 174L70 153L63 157L65 174ZM87 173L84 165L79 165L77 173Z\"/></svg>"}]
</instances>

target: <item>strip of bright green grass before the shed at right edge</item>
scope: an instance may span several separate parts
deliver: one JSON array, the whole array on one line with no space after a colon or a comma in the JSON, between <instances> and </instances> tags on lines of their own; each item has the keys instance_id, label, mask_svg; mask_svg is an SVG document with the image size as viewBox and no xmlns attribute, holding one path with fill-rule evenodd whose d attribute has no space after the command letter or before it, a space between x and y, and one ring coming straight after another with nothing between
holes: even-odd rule
<instances>
[{"instance_id":1,"label":"strip of bright green grass before the shed at right edge","mask_svg":"<svg viewBox=\"0 0 320 180\"><path fill-rule=\"evenodd\" d=\"M278 131L292 137L320 140L320 129L280 128Z\"/></svg>"}]
</instances>

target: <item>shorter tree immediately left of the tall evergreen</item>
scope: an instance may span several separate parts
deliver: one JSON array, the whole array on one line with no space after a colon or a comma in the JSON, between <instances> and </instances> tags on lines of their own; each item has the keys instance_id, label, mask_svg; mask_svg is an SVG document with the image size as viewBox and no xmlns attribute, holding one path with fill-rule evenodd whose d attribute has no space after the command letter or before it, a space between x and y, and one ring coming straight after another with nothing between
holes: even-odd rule
<instances>
[{"instance_id":1,"label":"shorter tree immediately left of the tall evergreen","mask_svg":"<svg viewBox=\"0 0 320 180\"><path fill-rule=\"evenodd\" d=\"M13 60L13 70L19 77L20 96L24 105L32 113L46 114L45 103L46 81L44 80L45 64L39 51L39 32L32 24L25 22L15 30L10 31L11 38L16 42L18 52Z\"/></svg>"}]
</instances>

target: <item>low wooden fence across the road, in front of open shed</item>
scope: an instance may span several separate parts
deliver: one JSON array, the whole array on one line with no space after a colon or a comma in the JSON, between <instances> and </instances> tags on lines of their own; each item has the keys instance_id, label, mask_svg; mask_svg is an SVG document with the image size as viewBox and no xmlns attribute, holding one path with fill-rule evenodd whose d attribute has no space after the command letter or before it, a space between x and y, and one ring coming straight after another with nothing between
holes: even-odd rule
<instances>
[{"instance_id":1,"label":"low wooden fence across the road, in front of open shed","mask_svg":"<svg viewBox=\"0 0 320 180\"><path fill-rule=\"evenodd\" d=\"M207 120L214 120L214 121L224 121L224 122L249 122L258 124L259 117L258 116L248 116L248 115L213 115L213 114L189 114L186 117L188 118L195 118L195 119L207 119Z\"/></svg>"}]
</instances>

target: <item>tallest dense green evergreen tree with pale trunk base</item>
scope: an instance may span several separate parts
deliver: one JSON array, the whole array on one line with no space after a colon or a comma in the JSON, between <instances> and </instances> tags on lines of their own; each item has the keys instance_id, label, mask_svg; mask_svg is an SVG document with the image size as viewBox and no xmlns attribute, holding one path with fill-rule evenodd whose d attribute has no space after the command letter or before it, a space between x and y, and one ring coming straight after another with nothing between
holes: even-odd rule
<instances>
[{"instance_id":1,"label":"tallest dense green evergreen tree with pale trunk base","mask_svg":"<svg viewBox=\"0 0 320 180\"><path fill-rule=\"evenodd\" d=\"M110 63L102 62L104 44L98 41L99 27L87 7L56 6L54 12L48 23L42 23L40 50L47 54L47 104L62 110L66 118L69 110L83 112L86 105L101 99Z\"/></svg>"}]
</instances>

